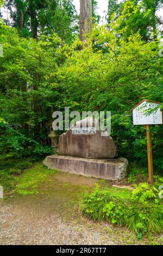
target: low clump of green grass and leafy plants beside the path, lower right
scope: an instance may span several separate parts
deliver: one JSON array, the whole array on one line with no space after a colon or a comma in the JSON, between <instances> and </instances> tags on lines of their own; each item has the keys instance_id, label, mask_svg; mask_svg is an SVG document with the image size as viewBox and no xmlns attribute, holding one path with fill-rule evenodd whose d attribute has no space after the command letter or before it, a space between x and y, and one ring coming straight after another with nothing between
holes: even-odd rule
<instances>
[{"instance_id":1,"label":"low clump of green grass and leafy plants beside the path, lower right","mask_svg":"<svg viewBox=\"0 0 163 256\"><path fill-rule=\"evenodd\" d=\"M146 204L133 198L133 192L126 192L126 196L122 191L120 189L119 194L117 191L111 193L108 189L102 191L97 186L92 194L84 194L82 213L94 221L106 220L126 226L139 239L145 234L160 234L163 229L162 204L150 201Z\"/></svg>"}]
</instances>

